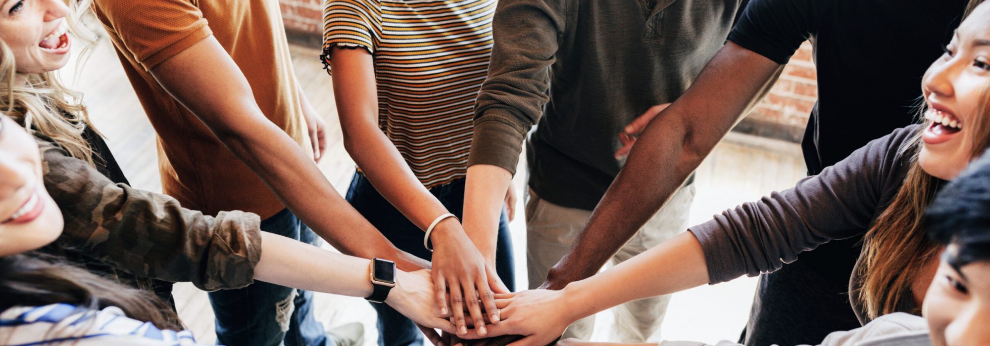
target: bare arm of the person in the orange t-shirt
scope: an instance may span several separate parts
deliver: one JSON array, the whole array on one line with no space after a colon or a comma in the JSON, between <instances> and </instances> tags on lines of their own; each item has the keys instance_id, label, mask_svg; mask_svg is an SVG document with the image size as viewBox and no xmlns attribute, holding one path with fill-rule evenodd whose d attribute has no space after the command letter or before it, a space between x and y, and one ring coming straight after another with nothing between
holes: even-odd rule
<instances>
[{"instance_id":1,"label":"bare arm of the person in the orange t-shirt","mask_svg":"<svg viewBox=\"0 0 990 346\"><path fill-rule=\"evenodd\" d=\"M313 160L258 109L250 85L212 36L151 68L151 75L257 174L285 206L344 253L429 263L395 248L334 190Z\"/></svg>"}]
</instances>

